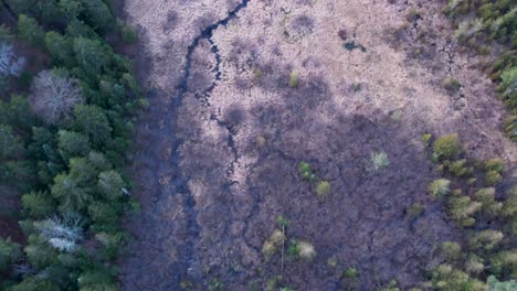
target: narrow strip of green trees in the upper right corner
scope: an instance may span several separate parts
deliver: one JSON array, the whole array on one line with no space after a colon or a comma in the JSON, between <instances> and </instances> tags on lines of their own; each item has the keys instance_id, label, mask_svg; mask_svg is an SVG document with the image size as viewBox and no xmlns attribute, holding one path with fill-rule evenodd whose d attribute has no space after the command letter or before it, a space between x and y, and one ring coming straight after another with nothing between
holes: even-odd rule
<instances>
[{"instance_id":1,"label":"narrow strip of green trees in the upper right corner","mask_svg":"<svg viewBox=\"0 0 517 291\"><path fill-rule=\"evenodd\" d=\"M513 114L505 131L517 141L517 1L451 0L444 13L453 20L455 37L465 47L488 54L494 42L503 45L487 72L498 83L497 93Z\"/></svg>"}]
</instances>

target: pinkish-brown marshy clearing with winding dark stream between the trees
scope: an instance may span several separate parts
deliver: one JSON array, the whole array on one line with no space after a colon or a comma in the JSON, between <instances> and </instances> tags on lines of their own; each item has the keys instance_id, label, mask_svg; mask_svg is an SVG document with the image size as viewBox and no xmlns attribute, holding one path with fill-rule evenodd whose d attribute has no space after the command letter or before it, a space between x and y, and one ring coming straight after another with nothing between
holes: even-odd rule
<instances>
[{"instance_id":1,"label":"pinkish-brown marshy clearing with winding dark stream between the trees","mask_svg":"<svg viewBox=\"0 0 517 291\"><path fill-rule=\"evenodd\" d=\"M340 290L352 266L360 290L424 281L457 231L425 193L437 173L422 134L458 132L471 158L517 157L483 60L458 52L441 2L127 0L151 105L123 290L262 290L281 274L279 256L261 254L278 215L317 251L285 261L286 287ZM408 20L411 8L422 13ZM390 164L374 171L380 151ZM326 201L300 161L330 182ZM423 215L405 218L416 202Z\"/></svg>"}]
</instances>

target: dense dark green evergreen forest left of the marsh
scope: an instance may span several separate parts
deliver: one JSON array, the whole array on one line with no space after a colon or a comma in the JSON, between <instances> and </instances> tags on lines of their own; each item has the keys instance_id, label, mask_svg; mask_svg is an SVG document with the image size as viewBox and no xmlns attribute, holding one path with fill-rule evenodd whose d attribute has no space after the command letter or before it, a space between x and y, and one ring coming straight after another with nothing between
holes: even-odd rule
<instances>
[{"instance_id":1,"label":"dense dark green evergreen forest left of the marsh","mask_svg":"<svg viewBox=\"0 0 517 291\"><path fill-rule=\"evenodd\" d=\"M27 245L0 240L0 290L116 290L119 220L137 207L124 165L145 101L106 39L136 32L108 0L2 4L18 23L0 26L0 183L24 193ZM24 46L50 66L34 72Z\"/></svg>"}]
</instances>

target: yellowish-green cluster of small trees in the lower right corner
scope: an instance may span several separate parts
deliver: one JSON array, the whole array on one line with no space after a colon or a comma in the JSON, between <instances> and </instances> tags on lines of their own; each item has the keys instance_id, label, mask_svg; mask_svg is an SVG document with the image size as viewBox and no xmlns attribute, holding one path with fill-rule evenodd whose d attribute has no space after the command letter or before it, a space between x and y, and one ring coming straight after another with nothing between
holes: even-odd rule
<instances>
[{"instance_id":1,"label":"yellowish-green cluster of small trees in the lower right corner","mask_svg":"<svg viewBox=\"0 0 517 291\"><path fill-rule=\"evenodd\" d=\"M499 186L505 163L499 159L466 159L457 134L441 137L432 144L431 139L424 136L430 158L443 177L429 185L429 193L443 203L462 237L436 248L441 263L431 272L426 287L445 291L515 290L517 186L506 191Z\"/></svg>"}]
</instances>

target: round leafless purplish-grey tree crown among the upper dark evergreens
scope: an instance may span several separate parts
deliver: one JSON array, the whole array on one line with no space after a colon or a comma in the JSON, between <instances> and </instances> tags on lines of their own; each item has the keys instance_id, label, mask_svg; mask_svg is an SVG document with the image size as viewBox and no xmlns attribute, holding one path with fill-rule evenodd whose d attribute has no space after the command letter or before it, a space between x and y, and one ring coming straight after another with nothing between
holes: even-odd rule
<instances>
[{"instance_id":1,"label":"round leafless purplish-grey tree crown among the upper dark evergreens","mask_svg":"<svg viewBox=\"0 0 517 291\"><path fill-rule=\"evenodd\" d=\"M83 103L83 96L75 79L42 71L32 83L30 103L36 115L54 123L70 118L74 106Z\"/></svg>"}]
</instances>

